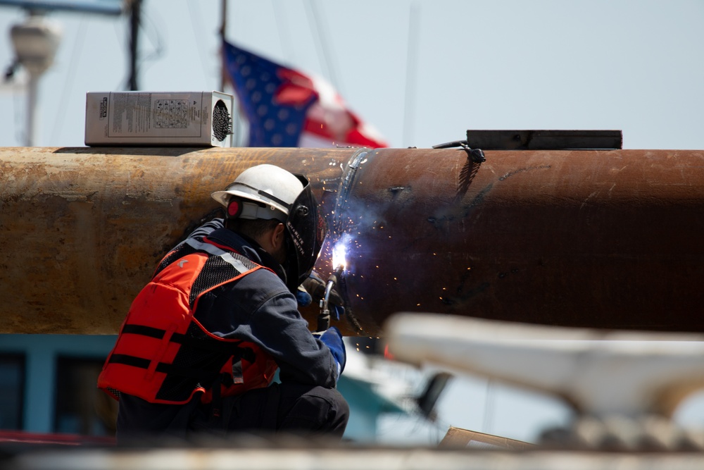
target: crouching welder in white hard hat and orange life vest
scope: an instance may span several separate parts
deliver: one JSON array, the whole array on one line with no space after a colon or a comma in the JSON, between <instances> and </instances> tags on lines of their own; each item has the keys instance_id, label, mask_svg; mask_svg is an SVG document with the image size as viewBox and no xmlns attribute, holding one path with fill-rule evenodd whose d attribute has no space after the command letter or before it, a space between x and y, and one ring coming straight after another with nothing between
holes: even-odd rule
<instances>
[{"instance_id":1,"label":"crouching welder in white hard hat and orange life vest","mask_svg":"<svg viewBox=\"0 0 704 470\"><path fill-rule=\"evenodd\" d=\"M258 165L212 197L225 218L158 264L99 376L119 400L118 443L203 432L341 436L344 343L335 327L310 333L295 296L327 233L308 180Z\"/></svg>"}]
</instances>

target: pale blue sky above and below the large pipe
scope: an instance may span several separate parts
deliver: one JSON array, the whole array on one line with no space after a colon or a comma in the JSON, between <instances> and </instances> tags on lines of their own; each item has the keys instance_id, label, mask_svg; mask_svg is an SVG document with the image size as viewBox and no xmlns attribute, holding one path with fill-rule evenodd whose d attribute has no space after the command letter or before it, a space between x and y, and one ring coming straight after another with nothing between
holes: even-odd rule
<instances>
[{"instance_id":1,"label":"pale blue sky above and below the large pipe","mask_svg":"<svg viewBox=\"0 0 704 470\"><path fill-rule=\"evenodd\" d=\"M144 0L139 89L220 89L220 5ZM24 16L0 6L3 70ZM127 89L129 21L47 19L63 36L39 82L34 142L82 147L86 92ZM700 0L231 0L226 33L329 80L391 147L461 140L467 129L615 129L627 149L704 149L703 23ZM0 85L0 147L24 145L25 78L18 70ZM440 428L524 440L569 416L551 398L470 376L451 382L439 414ZM386 431L439 432L398 420Z\"/></svg>"}]
</instances>

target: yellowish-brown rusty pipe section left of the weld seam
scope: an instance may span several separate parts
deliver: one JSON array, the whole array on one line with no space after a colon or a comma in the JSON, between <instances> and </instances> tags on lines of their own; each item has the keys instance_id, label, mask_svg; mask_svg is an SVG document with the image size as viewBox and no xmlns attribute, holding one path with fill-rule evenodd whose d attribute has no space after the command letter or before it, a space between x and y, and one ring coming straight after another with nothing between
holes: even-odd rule
<instances>
[{"instance_id":1,"label":"yellowish-brown rusty pipe section left of the weld seam","mask_svg":"<svg viewBox=\"0 0 704 470\"><path fill-rule=\"evenodd\" d=\"M117 333L158 259L217 211L210 192L272 163L321 200L355 152L223 150L0 148L0 332Z\"/></svg>"}]
</instances>

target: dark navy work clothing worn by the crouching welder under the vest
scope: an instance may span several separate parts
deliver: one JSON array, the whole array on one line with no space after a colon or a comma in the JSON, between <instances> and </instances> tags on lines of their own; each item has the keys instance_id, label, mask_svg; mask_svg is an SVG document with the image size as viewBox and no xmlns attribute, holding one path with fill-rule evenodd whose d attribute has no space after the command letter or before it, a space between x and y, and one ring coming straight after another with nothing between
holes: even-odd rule
<instances>
[{"instance_id":1,"label":"dark navy work clothing worn by the crouching welder under the vest","mask_svg":"<svg viewBox=\"0 0 704 470\"><path fill-rule=\"evenodd\" d=\"M270 268L207 292L196 307L201 324L214 335L253 342L279 366L280 383L222 398L220 419L196 393L187 404L150 403L122 394L117 421L118 443L145 436L189 438L194 433L239 431L327 433L340 436L348 421L348 404L336 390L342 364L323 341L308 330L282 267L253 240L210 221L189 237L231 247ZM337 333L337 331L336 331ZM339 334L339 333L338 333ZM341 339L339 340L341 344ZM343 346L344 348L344 346Z\"/></svg>"}]
</instances>

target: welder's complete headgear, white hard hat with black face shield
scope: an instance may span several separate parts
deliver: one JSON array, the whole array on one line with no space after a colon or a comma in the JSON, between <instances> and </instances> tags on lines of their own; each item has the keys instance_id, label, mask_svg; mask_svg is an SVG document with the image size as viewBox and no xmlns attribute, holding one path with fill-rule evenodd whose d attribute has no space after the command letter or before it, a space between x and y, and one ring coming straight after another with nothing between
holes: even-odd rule
<instances>
[{"instance_id":1,"label":"welder's complete headgear, white hard hat with black face shield","mask_svg":"<svg viewBox=\"0 0 704 470\"><path fill-rule=\"evenodd\" d=\"M257 165L211 197L225 206L227 218L275 218L284 223L288 256L283 267L287 287L295 292L313 269L327 233L308 178L275 165Z\"/></svg>"}]
</instances>

